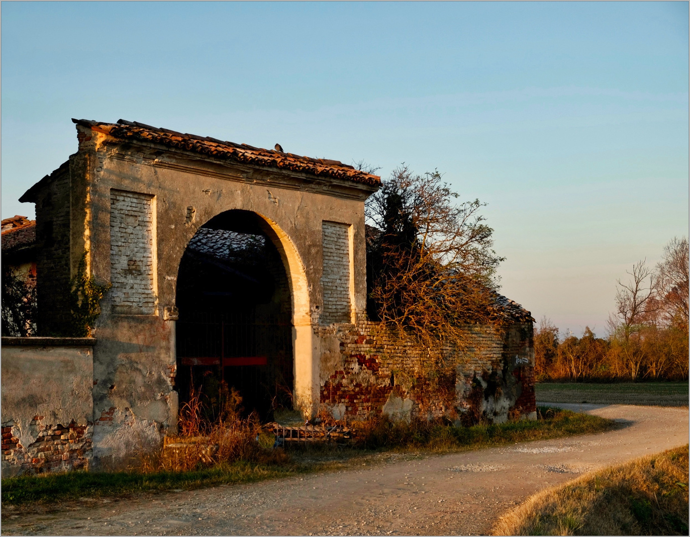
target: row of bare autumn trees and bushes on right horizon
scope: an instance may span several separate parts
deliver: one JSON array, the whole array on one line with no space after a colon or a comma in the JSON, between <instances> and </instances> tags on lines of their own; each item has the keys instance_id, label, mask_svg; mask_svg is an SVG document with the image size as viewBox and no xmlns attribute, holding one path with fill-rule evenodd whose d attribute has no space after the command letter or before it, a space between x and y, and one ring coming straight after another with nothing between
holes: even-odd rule
<instances>
[{"instance_id":1,"label":"row of bare autumn trees and bushes on right horizon","mask_svg":"<svg viewBox=\"0 0 690 537\"><path fill-rule=\"evenodd\" d=\"M543 316L534 333L538 382L687 381L688 239L674 237L661 261L640 260L618 279L604 338L586 326L562 334Z\"/></svg>"}]
</instances>

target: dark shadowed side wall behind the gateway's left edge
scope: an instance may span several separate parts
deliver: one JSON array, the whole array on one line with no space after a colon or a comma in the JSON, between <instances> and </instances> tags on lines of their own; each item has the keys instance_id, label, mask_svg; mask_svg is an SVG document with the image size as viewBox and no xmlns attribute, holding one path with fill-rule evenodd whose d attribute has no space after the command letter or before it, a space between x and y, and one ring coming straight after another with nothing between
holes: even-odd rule
<instances>
[{"instance_id":1,"label":"dark shadowed side wall behind the gateway's left edge","mask_svg":"<svg viewBox=\"0 0 690 537\"><path fill-rule=\"evenodd\" d=\"M38 335L68 334L70 312L70 165L50 174L36 200Z\"/></svg>"}]
</instances>

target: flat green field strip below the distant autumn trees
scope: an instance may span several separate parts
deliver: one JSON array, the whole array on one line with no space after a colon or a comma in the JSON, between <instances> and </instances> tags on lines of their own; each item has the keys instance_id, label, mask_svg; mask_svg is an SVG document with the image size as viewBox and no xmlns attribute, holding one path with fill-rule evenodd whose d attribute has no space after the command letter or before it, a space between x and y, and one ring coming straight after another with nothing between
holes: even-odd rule
<instances>
[{"instance_id":1,"label":"flat green field strip below the distant autumn trees","mask_svg":"<svg viewBox=\"0 0 690 537\"><path fill-rule=\"evenodd\" d=\"M688 383L538 383L537 401L687 407Z\"/></svg>"}]
</instances>

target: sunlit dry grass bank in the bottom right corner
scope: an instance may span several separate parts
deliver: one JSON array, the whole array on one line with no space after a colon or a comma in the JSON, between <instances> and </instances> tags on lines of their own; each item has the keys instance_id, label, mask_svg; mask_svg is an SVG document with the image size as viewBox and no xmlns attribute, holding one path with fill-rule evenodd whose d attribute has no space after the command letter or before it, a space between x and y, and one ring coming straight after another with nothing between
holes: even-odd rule
<instances>
[{"instance_id":1,"label":"sunlit dry grass bank in the bottom right corner","mask_svg":"<svg viewBox=\"0 0 690 537\"><path fill-rule=\"evenodd\" d=\"M688 446L591 472L532 496L494 535L687 535Z\"/></svg>"}]
</instances>

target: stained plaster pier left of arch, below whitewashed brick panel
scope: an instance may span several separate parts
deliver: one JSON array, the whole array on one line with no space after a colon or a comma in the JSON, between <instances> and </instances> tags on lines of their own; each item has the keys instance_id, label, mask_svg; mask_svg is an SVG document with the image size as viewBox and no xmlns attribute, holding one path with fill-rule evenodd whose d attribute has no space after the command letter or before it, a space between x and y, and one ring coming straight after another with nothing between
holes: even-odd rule
<instances>
[{"instance_id":1,"label":"stained plaster pier left of arch, below whitewashed brick panel","mask_svg":"<svg viewBox=\"0 0 690 537\"><path fill-rule=\"evenodd\" d=\"M120 467L160 445L177 424L175 323L157 316L99 319L94 349L94 465Z\"/></svg>"}]
</instances>

